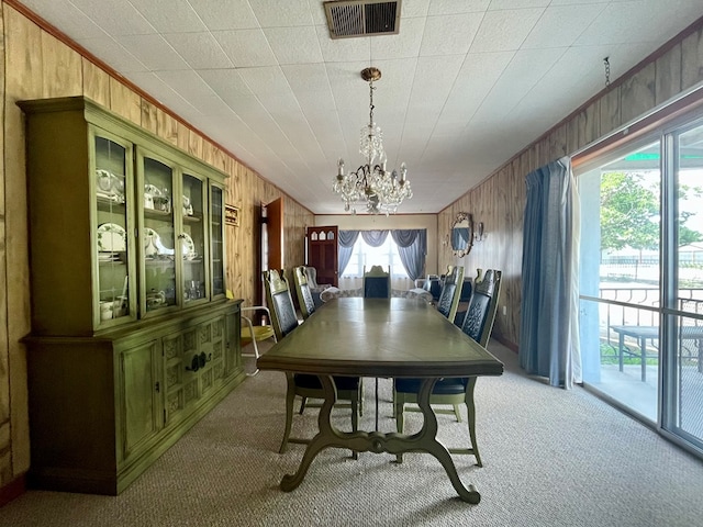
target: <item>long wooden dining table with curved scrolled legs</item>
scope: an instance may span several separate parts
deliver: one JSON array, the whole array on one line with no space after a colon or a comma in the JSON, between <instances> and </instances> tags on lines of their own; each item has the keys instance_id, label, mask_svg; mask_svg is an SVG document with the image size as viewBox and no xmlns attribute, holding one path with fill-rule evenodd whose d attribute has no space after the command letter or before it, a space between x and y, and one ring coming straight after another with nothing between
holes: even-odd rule
<instances>
[{"instance_id":1,"label":"long wooden dining table with curved scrolled legs","mask_svg":"<svg viewBox=\"0 0 703 527\"><path fill-rule=\"evenodd\" d=\"M473 485L464 485L447 448L436 438L437 418L429 394L438 379L501 375L503 363L427 302L335 299L271 347L257 366L260 370L316 374L325 393L317 434L308 444L298 471L281 480L281 490L298 487L325 448L391 455L420 451L442 463L461 500L479 503L479 492ZM417 401L424 416L422 429L412 435L341 431L331 422L336 402L332 375L421 378Z\"/></svg>"}]
</instances>

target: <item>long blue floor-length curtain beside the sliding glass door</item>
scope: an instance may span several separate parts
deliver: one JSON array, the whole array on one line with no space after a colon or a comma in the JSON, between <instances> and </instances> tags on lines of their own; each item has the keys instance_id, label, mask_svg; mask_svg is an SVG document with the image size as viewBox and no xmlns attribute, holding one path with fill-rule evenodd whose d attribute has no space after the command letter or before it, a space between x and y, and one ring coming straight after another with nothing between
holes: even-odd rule
<instances>
[{"instance_id":1,"label":"long blue floor-length curtain beside the sliding glass door","mask_svg":"<svg viewBox=\"0 0 703 527\"><path fill-rule=\"evenodd\" d=\"M553 386L581 382L579 199L563 157L526 177L520 366Z\"/></svg>"}]
</instances>

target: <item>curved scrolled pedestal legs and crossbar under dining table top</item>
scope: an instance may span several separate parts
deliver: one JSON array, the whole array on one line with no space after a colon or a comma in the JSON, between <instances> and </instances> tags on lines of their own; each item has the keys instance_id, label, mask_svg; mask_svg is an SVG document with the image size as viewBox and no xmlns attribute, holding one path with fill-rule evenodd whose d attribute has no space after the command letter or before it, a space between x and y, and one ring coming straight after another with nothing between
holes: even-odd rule
<instances>
[{"instance_id":1,"label":"curved scrolled pedestal legs and crossbar under dining table top","mask_svg":"<svg viewBox=\"0 0 703 527\"><path fill-rule=\"evenodd\" d=\"M290 492L298 487L305 478L312 460L325 448L338 447L348 448L357 452L371 451L376 453L388 452L399 455L404 452L427 452L433 455L444 467L449 476L449 481L459 497L468 503L477 504L481 501L481 495L473 485L467 489L457 473L456 466L447 448L437 439L437 417L429 405L429 395L436 379L424 379L417 394L417 405L424 416L422 429L411 436L398 433L382 434L379 431L356 431L345 433L336 429L331 421L330 414L336 401L336 391L331 377L321 375L320 381L325 393L325 402L320 408L317 417L319 431L310 441L300 467L294 474L286 474L280 487Z\"/></svg>"}]
</instances>

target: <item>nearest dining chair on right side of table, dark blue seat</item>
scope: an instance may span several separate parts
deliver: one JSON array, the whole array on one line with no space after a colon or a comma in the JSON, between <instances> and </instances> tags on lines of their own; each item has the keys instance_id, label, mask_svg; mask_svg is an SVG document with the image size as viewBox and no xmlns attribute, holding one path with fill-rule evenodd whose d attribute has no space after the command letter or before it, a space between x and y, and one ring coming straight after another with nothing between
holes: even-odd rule
<instances>
[{"instance_id":1,"label":"nearest dining chair on right side of table, dark blue seat","mask_svg":"<svg viewBox=\"0 0 703 527\"><path fill-rule=\"evenodd\" d=\"M489 269L481 277L481 269L478 269L477 278L473 282L471 300L467 309L466 317L461 323L461 330L473 340L486 347L488 345L495 313L498 312L498 301L501 290L501 274L499 270ZM449 448L451 453L466 453L476 457L476 464L482 467L481 456L476 441L476 407L473 404L473 391L476 389L476 377L469 378L446 378L435 383L429 396L431 405L451 405L453 410L433 408L436 414L453 413L458 422L461 421L459 405L464 403L467 408L467 421L469 428L469 439L471 448ZM416 407L405 407L405 404L417 403L417 392L420 391L421 379L395 379L393 382L393 405L395 415L395 428L403 433L403 413L417 411ZM398 462L402 462L402 455L397 456Z\"/></svg>"}]
</instances>

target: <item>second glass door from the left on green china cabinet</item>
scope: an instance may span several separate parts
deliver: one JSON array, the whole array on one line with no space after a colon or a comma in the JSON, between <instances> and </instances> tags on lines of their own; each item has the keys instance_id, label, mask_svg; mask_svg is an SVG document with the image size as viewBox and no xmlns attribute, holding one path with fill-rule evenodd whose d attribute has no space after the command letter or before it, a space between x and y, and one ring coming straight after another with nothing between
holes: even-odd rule
<instances>
[{"instance_id":1,"label":"second glass door from the left on green china cabinet","mask_svg":"<svg viewBox=\"0 0 703 527\"><path fill-rule=\"evenodd\" d=\"M142 310L148 314L177 304L176 231L174 228L174 167L138 156L141 229L138 245L144 277Z\"/></svg>"}]
</instances>

